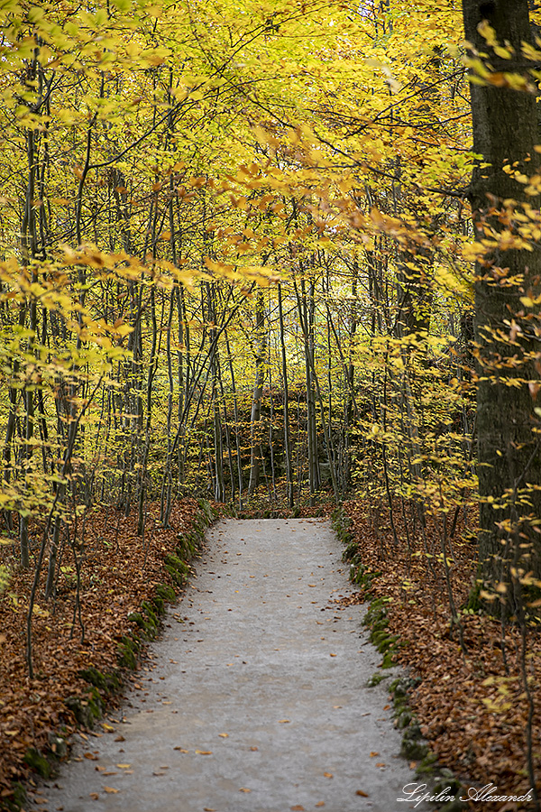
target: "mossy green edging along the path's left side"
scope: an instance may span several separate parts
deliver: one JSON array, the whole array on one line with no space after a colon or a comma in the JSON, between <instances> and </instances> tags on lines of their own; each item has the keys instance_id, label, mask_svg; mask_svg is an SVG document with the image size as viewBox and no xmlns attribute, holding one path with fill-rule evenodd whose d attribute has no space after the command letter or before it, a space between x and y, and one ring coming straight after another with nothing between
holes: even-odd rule
<instances>
[{"instance_id":1,"label":"mossy green edging along the path's left side","mask_svg":"<svg viewBox=\"0 0 541 812\"><path fill-rule=\"evenodd\" d=\"M206 500L197 500L198 512L193 518L192 526L186 533L179 533L177 545L172 553L164 558L164 568L170 574L173 584L180 590L186 585L190 567L188 561L203 547L205 531L217 519L218 513ZM166 612L166 604L172 604L177 593L170 584L159 584L150 600L142 601L138 612L128 616L134 623L133 632L123 636L118 644L118 668L111 673L103 674L94 666L83 669L79 676L88 684L87 693L77 697L67 697L65 705L82 728L92 728L105 712L110 697L124 686L124 672L137 668L137 660L144 644L153 640L160 630L160 618ZM69 752L69 744L61 734L49 736L49 746L41 752L31 747L24 754L24 761L42 779L54 777L59 762ZM20 812L26 801L26 789L23 784L14 784L11 798L0 800L0 810Z\"/></svg>"}]
</instances>

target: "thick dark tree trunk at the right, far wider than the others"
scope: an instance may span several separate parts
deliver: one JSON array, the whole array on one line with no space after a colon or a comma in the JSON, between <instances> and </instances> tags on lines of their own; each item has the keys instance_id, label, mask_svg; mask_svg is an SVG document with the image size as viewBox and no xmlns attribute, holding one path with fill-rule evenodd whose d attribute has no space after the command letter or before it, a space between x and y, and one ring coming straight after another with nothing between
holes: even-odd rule
<instances>
[{"instance_id":1,"label":"thick dark tree trunk at the right, far wider than the others","mask_svg":"<svg viewBox=\"0 0 541 812\"><path fill-rule=\"evenodd\" d=\"M531 176L539 171L536 96L527 77L534 63L522 56L522 43L531 40L527 0L463 0L463 18L466 39L488 53L496 73L494 83L472 83L473 150L490 164L477 167L472 176L474 223L478 239L485 238L488 226L502 235L505 231L510 242L521 225L514 215L522 204L539 208L539 199L528 197L525 184L515 177L516 172ZM510 43L509 59L501 59L481 36L483 20L501 45ZM528 85L511 88L506 74L525 77ZM538 245L532 251L506 248L500 241L476 267L479 550L481 576L506 585L504 600L514 614L520 573L541 575L541 543L532 526L532 519L541 516L540 443L532 430L539 426L534 411L541 368L539 306L528 305L539 292L541 253Z\"/></svg>"}]
</instances>

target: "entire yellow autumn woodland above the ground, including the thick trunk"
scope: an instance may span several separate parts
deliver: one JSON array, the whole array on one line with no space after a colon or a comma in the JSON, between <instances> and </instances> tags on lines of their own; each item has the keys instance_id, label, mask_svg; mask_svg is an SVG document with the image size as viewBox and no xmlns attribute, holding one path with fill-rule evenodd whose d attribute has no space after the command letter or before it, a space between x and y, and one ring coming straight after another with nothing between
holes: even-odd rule
<instances>
[{"instance_id":1,"label":"entire yellow autumn woodland above the ground, including the thick trunk","mask_svg":"<svg viewBox=\"0 0 541 812\"><path fill-rule=\"evenodd\" d=\"M463 6L0 3L0 575L30 577L31 676L96 507L145 549L187 496L353 498L382 558L437 569L463 652L480 552L467 611L522 630L534 780L541 13Z\"/></svg>"}]
</instances>

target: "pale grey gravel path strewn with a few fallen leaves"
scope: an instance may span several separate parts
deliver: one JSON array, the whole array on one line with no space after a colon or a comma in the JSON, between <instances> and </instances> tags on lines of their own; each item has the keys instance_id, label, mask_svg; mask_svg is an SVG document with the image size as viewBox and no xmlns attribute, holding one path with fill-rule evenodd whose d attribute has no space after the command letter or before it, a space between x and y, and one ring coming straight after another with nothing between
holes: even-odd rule
<instances>
[{"instance_id":1,"label":"pale grey gravel path strewn with a few fallen leaves","mask_svg":"<svg viewBox=\"0 0 541 812\"><path fill-rule=\"evenodd\" d=\"M329 523L225 520L207 539L115 731L82 742L41 810L408 808L365 610L335 603L351 589Z\"/></svg>"}]
</instances>

